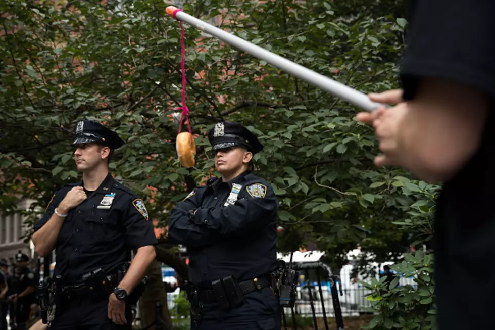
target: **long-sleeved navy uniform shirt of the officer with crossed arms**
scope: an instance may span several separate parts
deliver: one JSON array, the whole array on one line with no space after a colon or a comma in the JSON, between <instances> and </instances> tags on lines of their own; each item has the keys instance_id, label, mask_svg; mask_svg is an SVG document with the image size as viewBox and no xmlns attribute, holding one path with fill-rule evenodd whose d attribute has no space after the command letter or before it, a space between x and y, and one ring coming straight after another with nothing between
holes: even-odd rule
<instances>
[{"instance_id":1,"label":"long-sleeved navy uniform shirt of the officer with crossed arms","mask_svg":"<svg viewBox=\"0 0 495 330\"><path fill-rule=\"evenodd\" d=\"M270 184L248 172L229 182L210 179L179 202L168 235L172 243L187 246L193 284L208 288L226 276L243 281L274 271L277 210Z\"/></svg>"}]
</instances>

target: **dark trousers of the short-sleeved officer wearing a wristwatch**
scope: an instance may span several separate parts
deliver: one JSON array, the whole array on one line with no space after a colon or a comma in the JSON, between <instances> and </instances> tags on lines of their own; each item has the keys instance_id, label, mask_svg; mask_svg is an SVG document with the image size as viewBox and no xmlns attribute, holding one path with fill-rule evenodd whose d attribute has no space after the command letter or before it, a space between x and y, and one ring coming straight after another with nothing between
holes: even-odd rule
<instances>
[{"instance_id":1,"label":"dark trousers of the short-sleeved officer wearing a wristwatch","mask_svg":"<svg viewBox=\"0 0 495 330\"><path fill-rule=\"evenodd\" d=\"M108 318L108 300L89 298L64 299L57 306L50 330L127 330L132 329L131 306L126 306L125 325L117 325Z\"/></svg>"}]
</instances>

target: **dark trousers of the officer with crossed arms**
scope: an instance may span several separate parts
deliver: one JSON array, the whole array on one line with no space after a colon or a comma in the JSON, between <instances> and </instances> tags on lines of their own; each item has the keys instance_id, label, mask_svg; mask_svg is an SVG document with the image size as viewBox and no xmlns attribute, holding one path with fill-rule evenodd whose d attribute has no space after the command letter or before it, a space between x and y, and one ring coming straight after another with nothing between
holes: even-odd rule
<instances>
[{"instance_id":1,"label":"dark trousers of the officer with crossed arms","mask_svg":"<svg viewBox=\"0 0 495 330\"><path fill-rule=\"evenodd\" d=\"M203 319L198 326L191 321L191 330L280 330L280 304L271 288L245 295L245 302L222 311L216 303L204 304Z\"/></svg>"}]
</instances>

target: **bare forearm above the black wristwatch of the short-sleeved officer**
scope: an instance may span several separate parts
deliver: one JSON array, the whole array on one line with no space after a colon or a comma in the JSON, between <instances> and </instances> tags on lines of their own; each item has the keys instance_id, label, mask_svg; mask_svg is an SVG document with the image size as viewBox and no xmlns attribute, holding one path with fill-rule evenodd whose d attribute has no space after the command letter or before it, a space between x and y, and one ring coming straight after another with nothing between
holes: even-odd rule
<instances>
[{"instance_id":1,"label":"bare forearm above the black wristwatch of the short-sleeved officer","mask_svg":"<svg viewBox=\"0 0 495 330\"><path fill-rule=\"evenodd\" d=\"M130 294L146 274L148 267L155 260L155 256L154 246L150 245L139 248L129 270L120 282L119 288L124 289L127 294Z\"/></svg>"}]
</instances>

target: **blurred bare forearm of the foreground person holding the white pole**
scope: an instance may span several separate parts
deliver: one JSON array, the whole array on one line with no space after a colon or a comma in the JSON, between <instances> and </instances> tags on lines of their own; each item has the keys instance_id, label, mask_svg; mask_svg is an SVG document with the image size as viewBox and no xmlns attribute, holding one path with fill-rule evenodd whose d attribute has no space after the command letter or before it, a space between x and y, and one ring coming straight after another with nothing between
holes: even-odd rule
<instances>
[{"instance_id":1,"label":"blurred bare forearm of the foreground person holding the white pole","mask_svg":"<svg viewBox=\"0 0 495 330\"><path fill-rule=\"evenodd\" d=\"M450 179L476 152L488 100L473 88L425 81L399 129L403 165L421 179Z\"/></svg>"}]
</instances>

